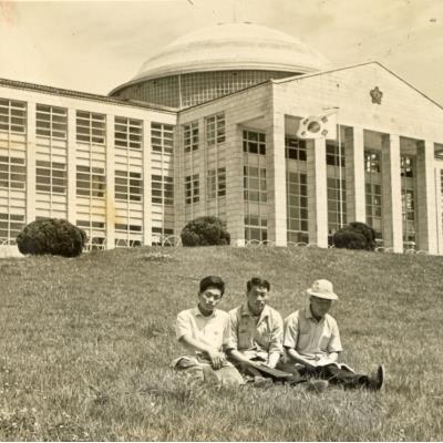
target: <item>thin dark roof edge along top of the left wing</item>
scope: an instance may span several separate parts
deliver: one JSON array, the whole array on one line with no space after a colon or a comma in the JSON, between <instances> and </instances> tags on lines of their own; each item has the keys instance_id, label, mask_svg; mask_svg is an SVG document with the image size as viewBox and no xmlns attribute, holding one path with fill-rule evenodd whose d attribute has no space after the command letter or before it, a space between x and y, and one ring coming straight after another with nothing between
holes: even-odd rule
<instances>
[{"instance_id":1,"label":"thin dark roof edge along top of the left wing","mask_svg":"<svg viewBox=\"0 0 443 443\"><path fill-rule=\"evenodd\" d=\"M169 106L164 106L161 104L151 104L151 103L145 103L136 100L122 100L122 99L115 99L115 97L110 97L107 95L100 95L100 94L92 94L90 92L81 92L81 91L73 91L73 90L65 90L61 87L54 87L54 86L47 86L43 84L35 84L35 83L28 83L28 82L22 82L18 80L9 80L9 79L1 79L0 78L0 86L9 86L9 87L16 87L16 89L21 89L21 90L28 90L28 91L35 91L35 92L41 92L45 94L52 94L52 95L61 95L61 96L66 96L66 97L73 97L73 99L86 99L86 100L93 100L96 102L105 102L105 103L112 103L121 106L131 106L131 107L138 107L138 109L148 109L153 111L164 111L164 112L169 112L169 113L177 113L178 109L176 107L169 107Z\"/></svg>"}]
</instances>

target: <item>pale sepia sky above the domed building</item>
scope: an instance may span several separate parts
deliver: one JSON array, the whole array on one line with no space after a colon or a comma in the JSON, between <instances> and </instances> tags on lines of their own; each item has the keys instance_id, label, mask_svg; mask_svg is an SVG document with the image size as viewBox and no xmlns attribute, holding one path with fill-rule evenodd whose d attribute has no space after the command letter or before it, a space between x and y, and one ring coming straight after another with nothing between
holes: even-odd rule
<instances>
[{"instance_id":1,"label":"pale sepia sky above the domed building","mask_svg":"<svg viewBox=\"0 0 443 443\"><path fill-rule=\"evenodd\" d=\"M377 60L443 104L443 0L0 1L0 78L107 94L179 35L244 21L332 66Z\"/></svg>"}]
</instances>

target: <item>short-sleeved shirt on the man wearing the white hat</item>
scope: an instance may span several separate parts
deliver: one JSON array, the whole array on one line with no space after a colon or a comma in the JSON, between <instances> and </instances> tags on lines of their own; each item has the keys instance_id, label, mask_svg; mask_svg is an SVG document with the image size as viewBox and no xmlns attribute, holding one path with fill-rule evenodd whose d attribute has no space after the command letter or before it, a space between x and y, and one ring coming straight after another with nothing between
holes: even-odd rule
<instances>
[{"instance_id":1,"label":"short-sleeved shirt on the man wearing the white hat","mask_svg":"<svg viewBox=\"0 0 443 443\"><path fill-rule=\"evenodd\" d=\"M310 306L285 319L284 346L295 349L300 356L312 360L330 352L343 350L334 318L327 313L317 321Z\"/></svg>"}]
</instances>

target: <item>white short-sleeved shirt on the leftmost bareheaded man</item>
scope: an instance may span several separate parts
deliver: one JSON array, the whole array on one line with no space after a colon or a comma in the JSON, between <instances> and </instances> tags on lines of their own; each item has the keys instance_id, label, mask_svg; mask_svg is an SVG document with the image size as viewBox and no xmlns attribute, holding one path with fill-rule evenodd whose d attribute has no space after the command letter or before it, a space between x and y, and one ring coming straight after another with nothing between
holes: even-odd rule
<instances>
[{"instance_id":1,"label":"white short-sleeved shirt on the leftmost bareheaded man","mask_svg":"<svg viewBox=\"0 0 443 443\"><path fill-rule=\"evenodd\" d=\"M175 323L175 334L177 340L183 336L189 336L195 340L222 351L223 347L228 342L229 338L229 315L219 309L205 317L198 309L187 309L177 316ZM194 352L194 349L187 347L187 350Z\"/></svg>"}]
</instances>

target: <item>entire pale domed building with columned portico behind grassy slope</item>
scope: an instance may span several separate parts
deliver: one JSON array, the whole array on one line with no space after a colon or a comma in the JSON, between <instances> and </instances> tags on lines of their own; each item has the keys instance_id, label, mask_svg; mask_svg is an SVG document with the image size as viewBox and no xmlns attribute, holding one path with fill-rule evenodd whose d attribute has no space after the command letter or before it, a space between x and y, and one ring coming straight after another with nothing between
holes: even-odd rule
<instances>
[{"instance_id":1,"label":"entire pale domed building with columned portico behind grassy slope","mask_svg":"<svg viewBox=\"0 0 443 443\"><path fill-rule=\"evenodd\" d=\"M237 246L328 247L362 222L443 255L442 127L380 63L333 69L250 23L178 38L109 95L0 79L0 244L58 217L87 249L171 245L215 215Z\"/></svg>"}]
</instances>

